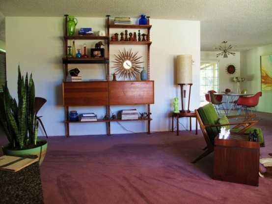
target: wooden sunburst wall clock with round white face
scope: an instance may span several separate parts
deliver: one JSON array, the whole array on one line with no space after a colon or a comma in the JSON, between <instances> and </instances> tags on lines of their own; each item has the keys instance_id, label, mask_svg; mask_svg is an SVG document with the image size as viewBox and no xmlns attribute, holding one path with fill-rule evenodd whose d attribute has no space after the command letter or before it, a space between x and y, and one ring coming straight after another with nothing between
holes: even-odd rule
<instances>
[{"instance_id":1,"label":"wooden sunburst wall clock with round white face","mask_svg":"<svg viewBox=\"0 0 272 204\"><path fill-rule=\"evenodd\" d=\"M114 65L112 68L114 68L115 72L114 74L116 76L119 76L118 78L125 79L136 79L137 73L140 73L139 69L142 68L139 64L143 63L143 61L140 61L139 59L142 58L142 56L137 56L138 52L135 54L132 52L132 49L130 51L126 51L124 48L124 51L121 52L119 50L118 55L114 55L115 59Z\"/></svg>"}]
</instances>

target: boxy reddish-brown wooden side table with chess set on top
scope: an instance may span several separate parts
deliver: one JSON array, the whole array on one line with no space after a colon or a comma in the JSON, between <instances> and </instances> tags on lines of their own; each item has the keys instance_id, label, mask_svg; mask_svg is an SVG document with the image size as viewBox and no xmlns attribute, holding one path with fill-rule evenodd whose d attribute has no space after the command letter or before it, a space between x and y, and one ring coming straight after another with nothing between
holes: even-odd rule
<instances>
[{"instance_id":1,"label":"boxy reddish-brown wooden side table with chess set on top","mask_svg":"<svg viewBox=\"0 0 272 204\"><path fill-rule=\"evenodd\" d=\"M215 138L214 179L258 186L259 159L260 143L249 142L248 135Z\"/></svg>"}]
</instances>

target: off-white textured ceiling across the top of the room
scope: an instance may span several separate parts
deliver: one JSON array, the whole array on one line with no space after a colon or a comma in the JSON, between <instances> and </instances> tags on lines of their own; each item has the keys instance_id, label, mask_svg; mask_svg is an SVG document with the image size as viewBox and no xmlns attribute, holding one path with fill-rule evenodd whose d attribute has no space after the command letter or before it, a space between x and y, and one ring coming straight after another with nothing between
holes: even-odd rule
<instances>
[{"instance_id":1,"label":"off-white textured ceiling across the top of the room","mask_svg":"<svg viewBox=\"0 0 272 204\"><path fill-rule=\"evenodd\" d=\"M222 41L240 52L272 44L272 0L0 0L0 39L4 17L131 17L200 21L201 51ZM167 32L167 30L164 30Z\"/></svg>"}]
</instances>

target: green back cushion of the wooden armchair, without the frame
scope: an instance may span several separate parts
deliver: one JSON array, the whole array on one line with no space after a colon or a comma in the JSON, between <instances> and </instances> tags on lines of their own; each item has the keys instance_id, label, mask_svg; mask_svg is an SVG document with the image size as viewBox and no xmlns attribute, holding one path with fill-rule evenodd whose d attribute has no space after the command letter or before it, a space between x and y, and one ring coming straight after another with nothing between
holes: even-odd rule
<instances>
[{"instance_id":1,"label":"green back cushion of the wooden armchair, without the frame","mask_svg":"<svg viewBox=\"0 0 272 204\"><path fill-rule=\"evenodd\" d=\"M213 104L209 103L198 109L198 113L205 125L218 124L218 114ZM215 137L219 134L217 127L207 128L211 142L214 144Z\"/></svg>"}]
</instances>

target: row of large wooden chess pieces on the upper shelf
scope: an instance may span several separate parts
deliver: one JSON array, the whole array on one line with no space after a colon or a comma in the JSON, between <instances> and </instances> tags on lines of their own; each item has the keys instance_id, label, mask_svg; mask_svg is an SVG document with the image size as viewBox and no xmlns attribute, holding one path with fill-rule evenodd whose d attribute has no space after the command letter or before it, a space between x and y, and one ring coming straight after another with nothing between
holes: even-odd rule
<instances>
[{"instance_id":1,"label":"row of large wooden chess pieces on the upper shelf","mask_svg":"<svg viewBox=\"0 0 272 204\"><path fill-rule=\"evenodd\" d=\"M137 33L134 32L130 32L128 33L128 30L125 30L125 33L124 32L121 32L120 33L120 40L119 40L119 34L118 33L114 33L113 36L111 36L111 41L130 41L130 42L136 42L136 41L147 41L149 42L150 41L150 36L149 34L141 34L140 33L140 30L138 30L138 38L137 38Z\"/></svg>"}]
</instances>

